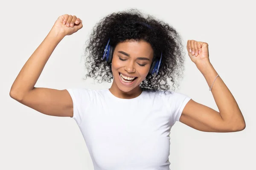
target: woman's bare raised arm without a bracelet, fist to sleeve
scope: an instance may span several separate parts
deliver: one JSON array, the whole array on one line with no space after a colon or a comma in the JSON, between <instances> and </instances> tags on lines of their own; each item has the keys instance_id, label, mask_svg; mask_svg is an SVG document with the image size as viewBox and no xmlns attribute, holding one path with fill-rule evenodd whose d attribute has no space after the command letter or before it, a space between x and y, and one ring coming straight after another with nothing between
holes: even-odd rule
<instances>
[{"instance_id":1,"label":"woman's bare raised arm without a bracelet, fist to sleeve","mask_svg":"<svg viewBox=\"0 0 256 170\"><path fill-rule=\"evenodd\" d=\"M67 90L35 88L35 83L58 43L66 35L71 35L81 28L82 22L76 16L65 14L58 17L47 37L20 70L12 84L10 96L41 113L73 117L73 101Z\"/></svg>"}]
</instances>

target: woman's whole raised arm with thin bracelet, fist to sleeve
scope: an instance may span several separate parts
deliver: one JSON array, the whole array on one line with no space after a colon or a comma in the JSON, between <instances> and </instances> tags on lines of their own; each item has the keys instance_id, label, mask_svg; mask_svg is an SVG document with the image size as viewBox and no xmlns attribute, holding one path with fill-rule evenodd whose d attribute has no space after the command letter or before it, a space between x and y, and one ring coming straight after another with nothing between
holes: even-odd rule
<instances>
[{"instance_id":1,"label":"woman's whole raised arm with thin bracelet, fist to sleeve","mask_svg":"<svg viewBox=\"0 0 256 170\"><path fill-rule=\"evenodd\" d=\"M219 112L191 99L183 109L180 122L205 132L244 130L244 116L236 99L209 62L208 44L188 40L187 50L189 57L206 79Z\"/></svg>"}]
</instances>

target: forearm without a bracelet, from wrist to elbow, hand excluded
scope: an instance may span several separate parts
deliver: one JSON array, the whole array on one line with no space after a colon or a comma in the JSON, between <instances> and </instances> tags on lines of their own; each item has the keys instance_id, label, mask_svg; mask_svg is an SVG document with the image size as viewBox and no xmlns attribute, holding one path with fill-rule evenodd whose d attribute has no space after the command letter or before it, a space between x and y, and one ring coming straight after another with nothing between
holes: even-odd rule
<instances>
[{"instance_id":1,"label":"forearm without a bracelet, from wrist to elbow, hand excluded","mask_svg":"<svg viewBox=\"0 0 256 170\"><path fill-rule=\"evenodd\" d=\"M26 92L34 88L49 57L62 39L63 36L55 31L49 32L17 75L10 90L11 96L22 98Z\"/></svg>"}]
</instances>

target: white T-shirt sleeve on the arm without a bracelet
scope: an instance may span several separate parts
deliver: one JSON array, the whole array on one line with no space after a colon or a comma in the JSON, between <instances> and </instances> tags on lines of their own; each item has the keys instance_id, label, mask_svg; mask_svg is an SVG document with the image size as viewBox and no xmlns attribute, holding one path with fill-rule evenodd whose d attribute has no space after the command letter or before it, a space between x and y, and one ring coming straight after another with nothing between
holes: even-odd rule
<instances>
[{"instance_id":1,"label":"white T-shirt sleeve on the arm without a bracelet","mask_svg":"<svg viewBox=\"0 0 256 170\"><path fill-rule=\"evenodd\" d=\"M81 124L87 108L94 98L93 90L86 88L68 88L66 89L73 100L73 119L78 125Z\"/></svg>"}]
</instances>

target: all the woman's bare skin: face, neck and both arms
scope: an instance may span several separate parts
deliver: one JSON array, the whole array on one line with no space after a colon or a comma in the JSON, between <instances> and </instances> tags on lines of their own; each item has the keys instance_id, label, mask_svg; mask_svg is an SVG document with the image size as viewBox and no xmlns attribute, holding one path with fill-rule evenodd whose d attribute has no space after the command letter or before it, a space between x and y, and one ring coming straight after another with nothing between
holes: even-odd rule
<instances>
[{"instance_id":1,"label":"all the woman's bare skin: face, neck and both arms","mask_svg":"<svg viewBox=\"0 0 256 170\"><path fill-rule=\"evenodd\" d=\"M12 84L10 96L23 105L41 113L50 116L73 117L73 101L67 90L36 88L35 83L58 43L66 35L71 35L82 27L82 21L76 16L65 14L58 17L47 37L29 57L17 75ZM218 73L209 62L208 44L206 42L188 40L187 50L190 59L201 71L210 88ZM118 51L124 51L130 54L130 57ZM119 57L127 60L121 61ZM138 59L138 57L145 57L149 61ZM153 49L147 42L119 43L113 53L112 71L114 81L110 88L111 93L125 99L139 96L142 92L139 86L140 82L147 76L152 58ZM145 64L145 66L143 67L139 64ZM124 86L119 80L119 72L138 78L133 85ZM243 130L245 128L244 117L234 96L221 77L217 77L211 92L219 112L191 99L183 109L180 122L206 132L235 132Z\"/></svg>"}]
</instances>

